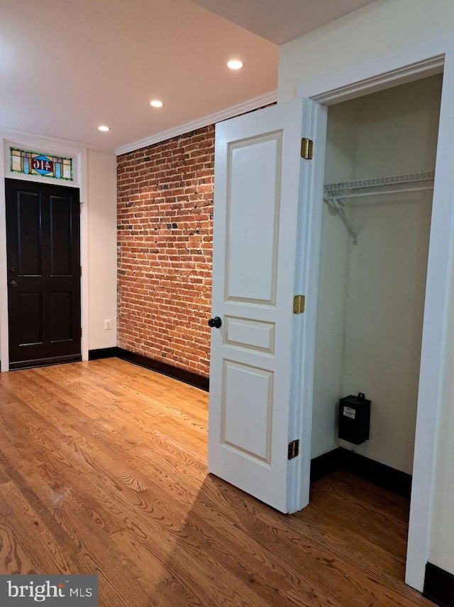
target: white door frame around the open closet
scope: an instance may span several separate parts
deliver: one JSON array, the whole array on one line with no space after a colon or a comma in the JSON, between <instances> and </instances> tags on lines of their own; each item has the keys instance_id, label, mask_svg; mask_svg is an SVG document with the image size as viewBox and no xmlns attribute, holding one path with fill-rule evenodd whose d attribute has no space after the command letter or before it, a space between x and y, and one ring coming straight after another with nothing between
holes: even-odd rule
<instances>
[{"instance_id":1,"label":"white door frame around the open closet","mask_svg":"<svg viewBox=\"0 0 454 607\"><path fill-rule=\"evenodd\" d=\"M297 89L297 97L309 97L320 104L320 111L314 115L320 133L326 129L326 105L335 104L370 92L417 80L443 71L443 90L438 131L436 177L433 190L433 210L431 237L428 253L426 299L423 318L423 338L421 345L421 372L416 417L416 437L414 448L413 487L409 536L406 556L406 583L419 591L423 590L426 563L428 561L429 532L431 520L431 494L434 476L434 455L436 446L436 419L441 399L444 328L447 312L450 251L453 237L454 174L454 38L451 34L437 36L427 41L404 47L392 53L381 55L339 72L323 76L311 82L302 83ZM324 109L324 111L323 111ZM314 125L312 125L314 129ZM317 190L323 187L324 148L326 137L316 141L323 150L319 161L314 162L314 183ZM312 201L309 241L303 259L304 268L297 269L307 276L306 293L314 297L308 301L312 321L306 327L304 359L314 360L316 333L316 293L319 280L319 254L321 230L321 198ZM309 312L309 309L308 309ZM309 314L308 314L309 316ZM311 412L314 372L308 365L302 372L300 390L304 402L304 412L300 424L304 444L311 444ZM304 420L306 423L304 423ZM307 423L309 421L309 424Z\"/></svg>"}]
</instances>

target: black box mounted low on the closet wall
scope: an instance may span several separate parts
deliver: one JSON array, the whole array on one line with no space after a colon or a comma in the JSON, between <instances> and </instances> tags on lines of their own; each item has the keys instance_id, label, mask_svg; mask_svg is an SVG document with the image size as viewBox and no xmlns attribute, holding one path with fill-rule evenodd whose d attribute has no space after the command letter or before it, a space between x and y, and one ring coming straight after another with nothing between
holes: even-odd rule
<instances>
[{"instance_id":1,"label":"black box mounted low on the closet wall","mask_svg":"<svg viewBox=\"0 0 454 607\"><path fill-rule=\"evenodd\" d=\"M355 445L369 440L370 400L360 392L339 401L339 438Z\"/></svg>"}]
</instances>

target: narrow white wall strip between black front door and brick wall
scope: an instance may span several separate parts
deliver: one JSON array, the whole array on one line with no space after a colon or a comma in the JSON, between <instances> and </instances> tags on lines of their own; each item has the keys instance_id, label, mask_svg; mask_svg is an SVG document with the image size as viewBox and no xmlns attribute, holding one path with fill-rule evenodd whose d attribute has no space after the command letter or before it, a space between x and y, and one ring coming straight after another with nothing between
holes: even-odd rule
<instances>
[{"instance_id":1,"label":"narrow white wall strip between black front door and brick wall","mask_svg":"<svg viewBox=\"0 0 454 607\"><path fill-rule=\"evenodd\" d=\"M116 156L89 150L87 165L89 350L96 350L116 346Z\"/></svg>"}]
</instances>

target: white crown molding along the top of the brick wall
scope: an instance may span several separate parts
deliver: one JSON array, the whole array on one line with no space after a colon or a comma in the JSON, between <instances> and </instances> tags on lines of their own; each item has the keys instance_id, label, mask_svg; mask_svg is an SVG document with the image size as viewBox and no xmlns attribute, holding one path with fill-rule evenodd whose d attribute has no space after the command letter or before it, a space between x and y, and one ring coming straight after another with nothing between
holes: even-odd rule
<instances>
[{"instance_id":1,"label":"white crown molding along the top of the brick wall","mask_svg":"<svg viewBox=\"0 0 454 607\"><path fill-rule=\"evenodd\" d=\"M146 146L159 144L161 141L167 141L167 139L172 139L172 137L184 135L185 133L189 133L189 131L195 131L196 129L208 127L209 124L215 124L216 122L221 122L222 120L227 120L228 118L233 118L235 116L239 116L240 114L252 112L254 109L258 109L259 107L275 103L276 100L277 91L272 91L270 93L266 93L265 95L260 95L260 97L254 97L253 99L238 105L233 105L232 107L223 109L221 112L216 112L216 114L209 114L208 116L201 117L193 122L179 124L178 127L174 127L173 129L161 131L160 133L156 133L150 137L145 137L145 139L133 141L131 144L126 144L126 146L117 148L115 153L117 156L120 156L121 154L127 154L128 152L135 151Z\"/></svg>"}]
</instances>

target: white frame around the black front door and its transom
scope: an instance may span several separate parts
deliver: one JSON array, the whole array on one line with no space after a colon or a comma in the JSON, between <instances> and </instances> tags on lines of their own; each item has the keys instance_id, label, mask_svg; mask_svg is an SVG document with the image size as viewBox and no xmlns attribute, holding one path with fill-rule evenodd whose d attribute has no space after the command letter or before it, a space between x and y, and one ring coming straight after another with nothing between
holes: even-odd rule
<instances>
[{"instance_id":1,"label":"white frame around the black front door and its transom","mask_svg":"<svg viewBox=\"0 0 454 607\"><path fill-rule=\"evenodd\" d=\"M15 131L0 132L0 372L9 371L9 335L8 335L8 286L6 264L6 201L5 178L22 179L23 181L39 181L43 179L35 176L12 173L9 170L9 146L21 149L36 149L47 151L49 154L72 157L73 181L58 181L49 179L49 183L60 186L79 188L82 205L80 215L80 259L83 268L88 269L88 210L87 201L87 149L77 144L68 144L67 141L26 135ZM82 272L81 279L81 323L82 360L88 360L88 271Z\"/></svg>"}]
</instances>

